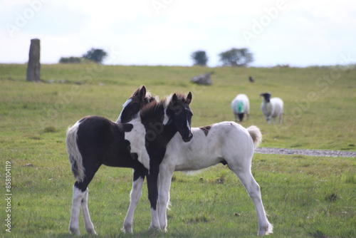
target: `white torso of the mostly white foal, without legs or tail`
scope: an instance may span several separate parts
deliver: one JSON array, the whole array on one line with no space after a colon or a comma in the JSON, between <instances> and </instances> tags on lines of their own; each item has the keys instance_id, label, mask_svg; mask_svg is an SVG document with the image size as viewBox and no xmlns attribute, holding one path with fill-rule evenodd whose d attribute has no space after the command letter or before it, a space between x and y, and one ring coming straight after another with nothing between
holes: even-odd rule
<instances>
[{"instance_id":1,"label":"white torso of the mostly white foal, without legs or tail","mask_svg":"<svg viewBox=\"0 0 356 238\"><path fill-rule=\"evenodd\" d=\"M172 164L175 171L184 171L201 170L240 157L251 160L252 138L246 128L235 122L192 128L192 133L190 143L183 143L177 134L174 135L162 163Z\"/></svg>"}]
</instances>

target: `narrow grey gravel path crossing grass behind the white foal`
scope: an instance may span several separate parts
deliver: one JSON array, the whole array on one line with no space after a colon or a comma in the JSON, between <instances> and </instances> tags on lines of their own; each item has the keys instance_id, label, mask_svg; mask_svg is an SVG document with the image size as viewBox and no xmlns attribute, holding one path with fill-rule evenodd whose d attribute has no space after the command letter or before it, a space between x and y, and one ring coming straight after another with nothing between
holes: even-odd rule
<instances>
[{"instance_id":1,"label":"narrow grey gravel path crossing grass behind the white foal","mask_svg":"<svg viewBox=\"0 0 356 238\"><path fill-rule=\"evenodd\" d=\"M331 156L331 157L356 157L356 151L341 150L301 150L301 149L281 149L281 148L257 148L259 154L276 155L309 155L309 156Z\"/></svg>"}]
</instances>

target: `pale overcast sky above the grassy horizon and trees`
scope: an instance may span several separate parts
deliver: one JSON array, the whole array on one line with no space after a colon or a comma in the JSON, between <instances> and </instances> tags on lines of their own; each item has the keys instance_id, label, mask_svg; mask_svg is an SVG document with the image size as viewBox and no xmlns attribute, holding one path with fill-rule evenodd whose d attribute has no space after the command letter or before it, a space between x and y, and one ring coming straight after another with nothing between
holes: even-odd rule
<instances>
[{"instance_id":1,"label":"pale overcast sky above the grassy horizon and trees","mask_svg":"<svg viewBox=\"0 0 356 238\"><path fill-rule=\"evenodd\" d=\"M356 63L355 0L0 0L0 63L26 63L31 38L41 63L109 53L105 64L192 66L206 51L248 48L251 66Z\"/></svg>"}]
</instances>

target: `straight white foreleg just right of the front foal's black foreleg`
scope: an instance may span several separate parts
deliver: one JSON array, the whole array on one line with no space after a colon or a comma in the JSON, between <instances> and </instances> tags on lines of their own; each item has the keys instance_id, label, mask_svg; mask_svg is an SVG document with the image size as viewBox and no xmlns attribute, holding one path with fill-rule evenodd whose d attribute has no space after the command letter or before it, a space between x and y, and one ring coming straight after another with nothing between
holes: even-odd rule
<instances>
[{"instance_id":1,"label":"straight white foreleg just right of the front foal's black foreleg","mask_svg":"<svg viewBox=\"0 0 356 238\"><path fill-rule=\"evenodd\" d=\"M174 168L159 166L158 217L161 229L167 231L167 209L169 204L169 189L171 187Z\"/></svg>"}]
</instances>

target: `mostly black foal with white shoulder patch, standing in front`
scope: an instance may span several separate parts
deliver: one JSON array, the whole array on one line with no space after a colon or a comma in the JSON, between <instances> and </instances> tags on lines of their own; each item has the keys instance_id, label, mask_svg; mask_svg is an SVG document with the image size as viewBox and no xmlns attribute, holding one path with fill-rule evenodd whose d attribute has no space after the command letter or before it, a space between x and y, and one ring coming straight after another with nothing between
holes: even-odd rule
<instances>
[{"instance_id":1,"label":"mostly black foal with white shoulder patch, standing in front","mask_svg":"<svg viewBox=\"0 0 356 238\"><path fill-rule=\"evenodd\" d=\"M103 117L87 116L68 129L67 152L76 180L70 232L80 234L81 206L86 231L96 234L88 210L88 185L101 165L131 167L135 170L134 181L143 181L147 177L152 216L150 228L161 229L157 214L159 164L167 143L177 132L184 142L192 140L191 101L192 93L187 97L174 93L163 100L147 101L139 117L130 123L114 123Z\"/></svg>"}]
</instances>

